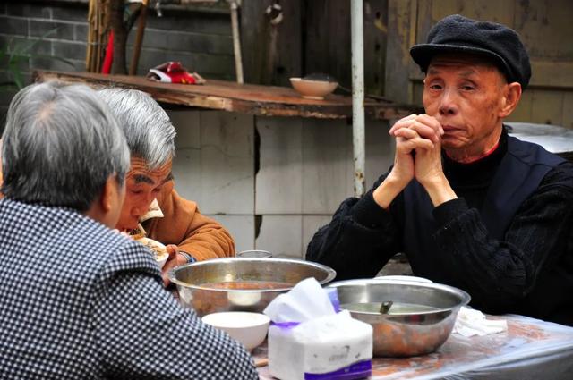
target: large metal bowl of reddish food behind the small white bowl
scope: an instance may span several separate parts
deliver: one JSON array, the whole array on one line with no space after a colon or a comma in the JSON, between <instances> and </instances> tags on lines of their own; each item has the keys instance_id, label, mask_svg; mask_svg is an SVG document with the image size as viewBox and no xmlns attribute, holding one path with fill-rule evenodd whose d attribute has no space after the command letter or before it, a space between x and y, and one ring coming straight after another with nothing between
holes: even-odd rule
<instances>
[{"instance_id":1,"label":"large metal bowl of reddish food behind the small white bowl","mask_svg":"<svg viewBox=\"0 0 573 380\"><path fill-rule=\"evenodd\" d=\"M214 258L169 272L185 306L204 316L219 311L253 311L261 313L278 294L291 290L296 283L314 277L329 283L336 272L328 266L291 258ZM285 283L277 289L216 289L210 284L240 282Z\"/></svg>"}]
</instances>

